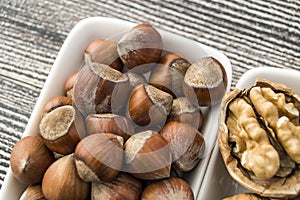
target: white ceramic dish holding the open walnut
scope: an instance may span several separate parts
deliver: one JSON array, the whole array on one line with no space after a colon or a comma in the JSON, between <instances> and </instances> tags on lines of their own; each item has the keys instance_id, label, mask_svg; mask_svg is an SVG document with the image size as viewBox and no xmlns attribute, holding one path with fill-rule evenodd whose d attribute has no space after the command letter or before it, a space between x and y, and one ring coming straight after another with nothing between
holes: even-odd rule
<instances>
[{"instance_id":1,"label":"white ceramic dish holding the open walnut","mask_svg":"<svg viewBox=\"0 0 300 200\"><path fill-rule=\"evenodd\" d=\"M236 87L239 89L248 89L255 83L256 78L265 78L272 82L283 83L292 88L297 94L300 94L300 71L273 67L260 67L247 71L240 78ZM219 152L219 146L216 145L209 161L198 199L221 200L222 198L243 192L249 191L229 176Z\"/></svg>"}]
</instances>

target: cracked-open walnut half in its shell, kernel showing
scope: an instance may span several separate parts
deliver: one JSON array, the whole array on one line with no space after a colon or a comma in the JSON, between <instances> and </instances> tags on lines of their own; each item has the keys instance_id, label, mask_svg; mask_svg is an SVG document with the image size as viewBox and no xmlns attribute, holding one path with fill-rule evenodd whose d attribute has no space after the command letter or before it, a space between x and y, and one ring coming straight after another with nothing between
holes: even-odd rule
<instances>
[{"instance_id":1,"label":"cracked-open walnut half in its shell, kernel showing","mask_svg":"<svg viewBox=\"0 0 300 200\"><path fill-rule=\"evenodd\" d=\"M298 196L299 112L300 97L292 89L265 79L227 93L218 144L232 178L263 197Z\"/></svg>"}]
</instances>

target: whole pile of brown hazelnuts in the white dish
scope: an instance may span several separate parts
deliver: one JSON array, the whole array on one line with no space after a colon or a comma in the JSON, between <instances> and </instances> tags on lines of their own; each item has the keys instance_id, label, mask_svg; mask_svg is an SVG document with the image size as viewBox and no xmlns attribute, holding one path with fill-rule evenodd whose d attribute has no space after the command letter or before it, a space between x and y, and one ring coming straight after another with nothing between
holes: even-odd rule
<instances>
[{"instance_id":1,"label":"whole pile of brown hazelnuts in the white dish","mask_svg":"<svg viewBox=\"0 0 300 200\"><path fill-rule=\"evenodd\" d=\"M38 136L13 148L13 175L29 186L22 198L194 199L178 174L201 160L201 108L226 84L217 59L163 51L148 24L91 42L65 96L45 103Z\"/></svg>"}]
</instances>

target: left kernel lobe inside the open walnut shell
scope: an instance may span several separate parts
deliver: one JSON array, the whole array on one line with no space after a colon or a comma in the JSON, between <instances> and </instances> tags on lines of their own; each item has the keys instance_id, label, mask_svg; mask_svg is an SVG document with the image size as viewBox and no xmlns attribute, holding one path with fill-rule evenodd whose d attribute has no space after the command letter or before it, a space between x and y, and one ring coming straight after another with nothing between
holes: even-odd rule
<instances>
[{"instance_id":1,"label":"left kernel lobe inside the open walnut shell","mask_svg":"<svg viewBox=\"0 0 300 200\"><path fill-rule=\"evenodd\" d=\"M233 153L258 178L272 178L280 167L279 154L260 127L253 108L244 99L236 98L230 103L229 112L226 124L229 142L236 143Z\"/></svg>"}]
</instances>

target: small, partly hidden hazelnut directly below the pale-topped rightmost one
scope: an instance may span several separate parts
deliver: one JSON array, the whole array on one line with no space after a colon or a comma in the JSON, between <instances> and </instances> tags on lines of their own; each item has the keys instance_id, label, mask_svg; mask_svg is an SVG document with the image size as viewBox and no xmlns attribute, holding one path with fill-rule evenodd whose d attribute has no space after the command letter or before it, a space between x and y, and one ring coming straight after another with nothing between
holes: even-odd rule
<instances>
[{"instance_id":1,"label":"small, partly hidden hazelnut directly below the pale-topped rightmost one","mask_svg":"<svg viewBox=\"0 0 300 200\"><path fill-rule=\"evenodd\" d=\"M202 128L204 117L201 109L194 106L186 97L179 97L173 100L171 112L168 116L169 121L179 121L188 123L197 128Z\"/></svg>"}]
</instances>

